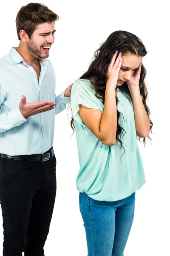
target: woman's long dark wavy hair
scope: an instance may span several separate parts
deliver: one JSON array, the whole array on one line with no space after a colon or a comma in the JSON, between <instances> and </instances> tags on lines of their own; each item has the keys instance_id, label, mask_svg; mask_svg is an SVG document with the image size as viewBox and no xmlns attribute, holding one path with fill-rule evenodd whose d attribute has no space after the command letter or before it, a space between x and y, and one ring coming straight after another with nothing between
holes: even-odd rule
<instances>
[{"instance_id":1,"label":"woman's long dark wavy hair","mask_svg":"<svg viewBox=\"0 0 170 256\"><path fill-rule=\"evenodd\" d=\"M144 57L147 54L144 44L136 35L133 35L130 32L126 32L122 30L113 32L111 35L109 35L108 39L100 45L99 49L97 49L96 52L94 53L94 57L92 59L92 62L87 72L85 72L80 77L80 79L89 79L90 81L92 81L93 88L96 92L96 97L101 99L103 104L105 103L105 89L106 89L106 81L108 79L108 75L107 75L108 66L116 50L118 50L118 54L119 52L122 52L122 55L131 53L136 56ZM144 108L147 112L147 115L150 116L150 109L146 104L147 87L146 87L146 84L144 83L145 76L146 76L146 69L142 64L141 75L139 80L139 88L140 88L140 94L141 94ZM130 91L127 87L126 82L122 84L122 86L119 86L119 90L121 90L121 92L131 101ZM117 102L118 102L118 99L116 97L116 105L117 105ZM120 115L123 116L123 114L117 110L116 140L118 140L119 143L121 144L121 147L123 147L121 134L123 134L124 129L120 126L118 122ZM152 126L153 126L153 122L150 120L150 131L152 130ZM73 116L71 118L71 128L74 130ZM151 140L149 136L147 137L149 138L149 140ZM141 138L137 137L137 139L140 141ZM145 146L146 144L145 138L143 138L143 143Z\"/></svg>"}]
</instances>

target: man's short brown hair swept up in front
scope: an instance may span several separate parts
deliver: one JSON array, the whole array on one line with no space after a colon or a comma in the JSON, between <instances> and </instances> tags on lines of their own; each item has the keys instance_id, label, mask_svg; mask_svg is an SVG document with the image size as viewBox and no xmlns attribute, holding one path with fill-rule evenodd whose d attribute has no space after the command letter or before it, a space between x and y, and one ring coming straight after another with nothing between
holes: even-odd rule
<instances>
[{"instance_id":1,"label":"man's short brown hair swept up in front","mask_svg":"<svg viewBox=\"0 0 170 256\"><path fill-rule=\"evenodd\" d=\"M41 3L28 3L22 6L17 13L16 26L18 39L20 38L20 31L23 29L29 38L33 34L37 25L45 22L53 22L59 19L59 16L48 9L47 6Z\"/></svg>"}]
</instances>

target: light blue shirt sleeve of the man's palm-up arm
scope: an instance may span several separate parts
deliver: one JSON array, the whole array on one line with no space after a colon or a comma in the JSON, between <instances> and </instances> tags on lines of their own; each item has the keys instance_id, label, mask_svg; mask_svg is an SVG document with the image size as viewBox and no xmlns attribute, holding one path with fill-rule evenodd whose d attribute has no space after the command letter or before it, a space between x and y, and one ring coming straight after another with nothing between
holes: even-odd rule
<instances>
[{"instance_id":1,"label":"light blue shirt sleeve of the man's palm-up arm","mask_svg":"<svg viewBox=\"0 0 170 256\"><path fill-rule=\"evenodd\" d=\"M5 100L3 90L0 86L0 133L10 130L13 127L19 126L27 121L21 114L20 109L16 108L8 113L2 113L1 106Z\"/></svg>"}]
</instances>

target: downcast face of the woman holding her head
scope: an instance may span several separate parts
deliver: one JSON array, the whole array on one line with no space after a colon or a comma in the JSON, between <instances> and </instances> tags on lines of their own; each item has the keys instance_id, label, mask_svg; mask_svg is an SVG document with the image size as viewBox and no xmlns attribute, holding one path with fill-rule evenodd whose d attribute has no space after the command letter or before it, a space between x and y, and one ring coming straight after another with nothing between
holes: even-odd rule
<instances>
[{"instance_id":1,"label":"downcast face of the woman holding her head","mask_svg":"<svg viewBox=\"0 0 170 256\"><path fill-rule=\"evenodd\" d=\"M125 81L130 80L133 72L139 67L142 57L131 53L122 55L122 66L119 71L117 85L121 86Z\"/></svg>"}]
</instances>

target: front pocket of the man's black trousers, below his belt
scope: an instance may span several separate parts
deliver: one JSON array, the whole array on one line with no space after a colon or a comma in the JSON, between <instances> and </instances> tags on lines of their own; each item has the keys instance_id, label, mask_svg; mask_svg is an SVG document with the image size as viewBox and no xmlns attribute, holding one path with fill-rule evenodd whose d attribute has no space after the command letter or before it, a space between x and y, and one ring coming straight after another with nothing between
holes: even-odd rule
<instances>
[{"instance_id":1,"label":"front pocket of the man's black trousers, below his belt","mask_svg":"<svg viewBox=\"0 0 170 256\"><path fill-rule=\"evenodd\" d=\"M5 184L8 184L15 176L17 170L17 163L15 160L12 159L3 159L3 181Z\"/></svg>"}]
</instances>

